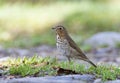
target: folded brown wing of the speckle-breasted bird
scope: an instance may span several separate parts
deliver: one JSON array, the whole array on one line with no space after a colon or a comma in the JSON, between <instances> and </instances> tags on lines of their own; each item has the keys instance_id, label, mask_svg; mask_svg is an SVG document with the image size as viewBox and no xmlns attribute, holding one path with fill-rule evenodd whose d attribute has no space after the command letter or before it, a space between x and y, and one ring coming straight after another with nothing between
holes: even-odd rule
<instances>
[{"instance_id":1,"label":"folded brown wing of the speckle-breasted bird","mask_svg":"<svg viewBox=\"0 0 120 83\"><path fill-rule=\"evenodd\" d=\"M70 38L70 36L67 36L66 38L67 38L70 46L72 48L76 49L76 51L80 53L79 56L81 58L83 58L83 60L87 60L88 61L89 59L87 58L87 56L82 52L82 50L77 46L77 44Z\"/></svg>"}]
</instances>

